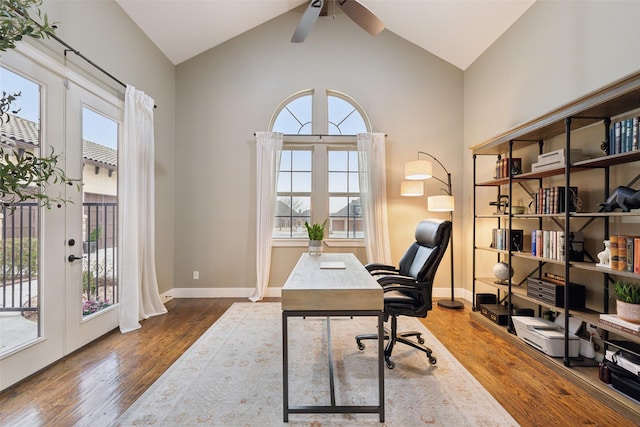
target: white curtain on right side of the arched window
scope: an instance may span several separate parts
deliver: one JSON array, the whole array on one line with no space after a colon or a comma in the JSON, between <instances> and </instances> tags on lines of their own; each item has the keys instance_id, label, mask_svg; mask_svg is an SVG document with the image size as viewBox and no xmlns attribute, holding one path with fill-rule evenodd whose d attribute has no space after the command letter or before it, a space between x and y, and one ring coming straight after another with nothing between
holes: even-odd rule
<instances>
[{"instance_id":1,"label":"white curtain on right side of the arched window","mask_svg":"<svg viewBox=\"0 0 640 427\"><path fill-rule=\"evenodd\" d=\"M357 137L360 162L360 204L368 262L391 264L387 222L387 174L383 133Z\"/></svg>"}]
</instances>

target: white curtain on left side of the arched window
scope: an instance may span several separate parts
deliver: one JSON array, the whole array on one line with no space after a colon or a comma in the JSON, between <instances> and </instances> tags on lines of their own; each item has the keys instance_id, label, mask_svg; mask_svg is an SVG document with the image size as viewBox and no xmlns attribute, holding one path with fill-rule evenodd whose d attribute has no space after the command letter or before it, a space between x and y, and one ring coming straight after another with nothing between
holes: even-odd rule
<instances>
[{"instance_id":1,"label":"white curtain on left side of the arched window","mask_svg":"<svg viewBox=\"0 0 640 427\"><path fill-rule=\"evenodd\" d=\"M256 290L249 298L260 301L269 285L271 267L271 241L276 202L276 185L282 152L282 134L256 132Z\"/></svg>"}]
</instances>

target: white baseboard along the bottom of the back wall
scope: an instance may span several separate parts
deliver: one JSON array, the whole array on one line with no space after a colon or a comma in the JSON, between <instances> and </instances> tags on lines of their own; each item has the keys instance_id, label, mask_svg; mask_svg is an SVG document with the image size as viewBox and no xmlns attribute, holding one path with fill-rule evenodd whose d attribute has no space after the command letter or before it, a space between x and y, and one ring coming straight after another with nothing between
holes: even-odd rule
<instances>
[{"instance_id":1,"label":"white baseboard along the bottom of the back wall","mask_svg":"<svg viewBox=\"0 0 640 427\"><path fill-rule=\"evenodd\" d=\"M266 297L279 298L282 288L267 288ZM173 288L160 295L162 302L167 303L174 298L247 298L253 295L255 288ZM456 288L455 298L471 301L471 291ZM433 288L434 298L451 297L451 288Z\"/></svg>"}]
</instances>

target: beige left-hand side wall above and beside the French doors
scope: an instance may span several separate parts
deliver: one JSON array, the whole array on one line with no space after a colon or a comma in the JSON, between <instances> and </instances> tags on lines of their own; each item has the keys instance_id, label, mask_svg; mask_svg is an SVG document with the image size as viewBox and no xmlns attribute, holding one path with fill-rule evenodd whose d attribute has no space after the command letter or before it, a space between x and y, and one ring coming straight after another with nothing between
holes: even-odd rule
<instances>
[{"instance_id":1,"label":"beige left-hand side wall above and beside the French doors","mask_svg":"<svg viewBox=\"0 0 640 427\"><path fill-rule=\"evenodd\" d=\"M174 287L175 67L113 0L45 0L43 11L57 22L56 34L118 80L151 96L156 141L156 263L161 292ZM63 46L47 41L63 59ZM69 53L66 65L124 99L124 88ZM83 72L86 70L86 72Z\"/></svg>"}]
</instances>

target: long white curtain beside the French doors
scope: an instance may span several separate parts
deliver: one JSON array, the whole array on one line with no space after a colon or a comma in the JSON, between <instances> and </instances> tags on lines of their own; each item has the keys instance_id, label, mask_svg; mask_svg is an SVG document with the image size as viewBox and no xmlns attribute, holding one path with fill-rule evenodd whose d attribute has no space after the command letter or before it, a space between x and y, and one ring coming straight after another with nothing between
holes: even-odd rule
<instances>
[{"instance_id":1,"label":"long white curtain beside the French doors","mask_svg":"<svg viewBox=\"0 0 640 427\"><path fill-rule=\"evenodd\" d=\"M155 264L153 99L127 86L118 171L120 331L167 312L158 293Z\"/></svg>"}]
</instances>

